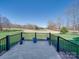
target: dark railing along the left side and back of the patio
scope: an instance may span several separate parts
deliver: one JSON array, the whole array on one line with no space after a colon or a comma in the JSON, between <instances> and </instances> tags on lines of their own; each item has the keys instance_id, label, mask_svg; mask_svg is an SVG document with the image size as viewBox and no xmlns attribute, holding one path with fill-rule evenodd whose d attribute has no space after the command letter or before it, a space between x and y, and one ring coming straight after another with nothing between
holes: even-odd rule
<instances>
[{"instance_id":1,"label":"dark railing along the left side and back of the patio","mask_svg":"<svg viewBox=\"0 0 79 59\"><path fill-rule=\"evenodd\" d=\"M12 46L14 46L17 42L20 41L24 37L25 40L31 40L33 38L37 38L38 40L45 40L47 37L49 37L49 33L18 33L14 35L7 35L4 38L0 39L0 55L3 54L3 52L8 51ZM21 42L21 41L20 41Z\"/></svg>"}]
</instances>

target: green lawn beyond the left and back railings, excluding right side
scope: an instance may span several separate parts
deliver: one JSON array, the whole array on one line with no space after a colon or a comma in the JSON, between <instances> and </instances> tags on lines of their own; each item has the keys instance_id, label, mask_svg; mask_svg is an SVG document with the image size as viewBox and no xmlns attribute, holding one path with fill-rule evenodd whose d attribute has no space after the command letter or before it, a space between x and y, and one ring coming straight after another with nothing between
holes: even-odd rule
<instances>
[{"instance_id":1,"label":"green lawn beyond the left and back railings, excluding right side","mask_svg":"<svg viewBox=\"0 0 79 59\"><path fill-rule=\"evenodd\" d=\"M14 35L16 34L16 35ZM0 32L0 38L5 37L6 35L10 35L10 47L14 46L21 39L20 31L12 31L12 32ZM46 39L49 34L36 34L38 39ZM26 40L32 40L35 37L35 33L23 33L23 37ZM6 51L6 38L0 40L0 52Z\"/></svg>"}]
</instances>

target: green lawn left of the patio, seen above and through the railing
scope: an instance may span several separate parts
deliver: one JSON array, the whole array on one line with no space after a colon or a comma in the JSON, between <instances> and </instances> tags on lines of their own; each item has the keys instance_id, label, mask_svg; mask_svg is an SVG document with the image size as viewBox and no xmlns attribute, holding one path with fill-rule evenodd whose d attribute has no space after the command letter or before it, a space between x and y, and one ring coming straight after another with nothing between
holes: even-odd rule
<instances>
[{"instance_id":1,"label":"green lawn left of the patio, seen above and through the railing","mask_svg":"<svg viewBox=\"0 0 79 59\"><path fill-rule=\"evenodd\" d=\"M16 34L16 35L14 35ZM21 31L0 32L0 52L6 50L6 35L10 35L10 47L16 44L21 38Z\"/></svg>"}]
</instances>

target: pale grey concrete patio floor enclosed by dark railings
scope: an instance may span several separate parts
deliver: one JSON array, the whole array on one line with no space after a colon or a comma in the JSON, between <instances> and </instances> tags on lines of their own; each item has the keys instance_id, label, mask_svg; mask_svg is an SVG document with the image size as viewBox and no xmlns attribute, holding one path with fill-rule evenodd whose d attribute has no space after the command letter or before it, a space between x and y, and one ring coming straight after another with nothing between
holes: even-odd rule
<instances>
[{"instance_id":1,"label":"pale grey concrete patio floor enclosed by dark railings","mask_svg":"<svg viewBox=\"0 0 79 59\"><path fill-rule=\"evenodd\" d=\"M22 45L19 43L11 48L0 59L61 59L56 49L49 46L47 41L24 41Z\"/></svg>"}]
</instances>

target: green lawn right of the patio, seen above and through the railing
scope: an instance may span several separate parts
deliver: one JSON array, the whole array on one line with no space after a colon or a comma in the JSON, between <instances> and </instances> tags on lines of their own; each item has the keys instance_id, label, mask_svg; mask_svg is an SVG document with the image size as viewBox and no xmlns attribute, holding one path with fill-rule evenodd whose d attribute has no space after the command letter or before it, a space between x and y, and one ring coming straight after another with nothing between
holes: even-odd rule
<instances>
[{"instance_id":1,"label":"green lawn right of the patio, seen above and through the railing","mask_svg":"<svg viewBox=\"0 0 79 59\"><path fill-rule=\"evenodd\" d=\"M79 54L79 34L76 33L67 33L67 34L54 34L62 38L59 39L60 49L71 52L72 54ZM52 35L52 42L56 46L57 37ZM65 40L64 40L64 39ZM72 43L71 43L72 42Z\"/></svg>"}]
</instances>

